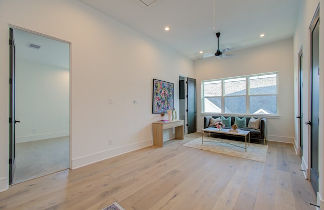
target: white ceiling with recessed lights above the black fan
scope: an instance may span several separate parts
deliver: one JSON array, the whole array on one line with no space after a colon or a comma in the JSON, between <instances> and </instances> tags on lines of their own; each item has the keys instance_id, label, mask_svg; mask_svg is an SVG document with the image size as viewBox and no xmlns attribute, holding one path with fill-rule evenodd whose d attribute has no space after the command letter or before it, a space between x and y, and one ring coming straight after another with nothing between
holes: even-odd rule
<instances>
[{"instance_id":1,"label":"white ceiling with recessed lights above the black fan","mask_svg":"<svg viewBox=\"0 0 324 210\"><path fill-rule=\"evenodd\" d=\"M301 0L79 0L191 59L293 37ZM164 30L165 26L170 31ZM263 38L259 35L265 33Z\"/></svg>"}]
</instances>

